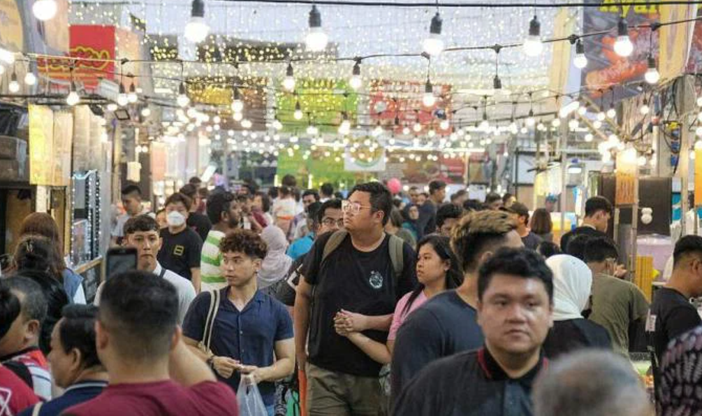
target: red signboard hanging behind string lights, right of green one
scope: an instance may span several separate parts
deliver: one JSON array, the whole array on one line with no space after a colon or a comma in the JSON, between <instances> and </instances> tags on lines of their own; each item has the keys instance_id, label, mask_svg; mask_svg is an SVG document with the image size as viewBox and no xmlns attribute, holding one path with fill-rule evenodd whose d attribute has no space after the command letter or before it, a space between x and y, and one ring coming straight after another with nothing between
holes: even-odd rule
<instances>
[{"instance_id":1,"label":"red signboard hanging behind string lights, right of green one","mask_svg":"<svg viewBox=\"0 0 702 416\"><path fill-rule=\"evenodd\" d=\"M398 84L387 79L376 79L370 85L371 122L380 123L386 130L401 134L405 126L412 128L419 122L421 132L434 129L437 134L447 135L451 131L439 128L439 118L453 117L451 110L451 86L437 84L433 86L436 103L427 108L422 103L425 84L407 82ZM397 117L399 124L395 125Z\"/></svg>"}]
</instances>

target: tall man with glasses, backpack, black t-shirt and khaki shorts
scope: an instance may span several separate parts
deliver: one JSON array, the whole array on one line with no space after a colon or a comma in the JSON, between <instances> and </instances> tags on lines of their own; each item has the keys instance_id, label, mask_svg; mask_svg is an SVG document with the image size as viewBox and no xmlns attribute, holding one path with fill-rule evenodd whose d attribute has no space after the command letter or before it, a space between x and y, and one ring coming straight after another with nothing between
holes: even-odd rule
<instances>
[{"instance_id":1,"label":"tall man with glasses, backpack, black t-shirt and khaki shorts","mask_svg":"<svg viewBox=\"0 0 702 416\"><path fill-rule=\"evenodd\" d=\"M413 249L384 231L391 209L385 186L355 186L342 203L344 229L320 236L305 258L294 323L310 416L376 415L380 409L380 364L334 325L345 311L355 331L385 343L397 300L416 285Z\"/></svg>"}]
</instances>

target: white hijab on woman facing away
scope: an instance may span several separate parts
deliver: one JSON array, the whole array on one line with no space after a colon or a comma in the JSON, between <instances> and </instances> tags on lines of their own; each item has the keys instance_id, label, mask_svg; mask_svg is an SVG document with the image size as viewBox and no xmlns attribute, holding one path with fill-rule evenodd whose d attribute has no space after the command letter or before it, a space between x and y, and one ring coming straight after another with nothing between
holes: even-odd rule
<instances>
[{"instance_id":1,"label":"white hijab on woman facing away","mask_svg":"<svg viewBox=\"0 0 702 416\"><path fill-rule=\"evenodd\" d=\"M592 271L567 254L550 256L546 264L553 272L553 320L582 319L592 290Z\"/></svg>"}]
</instances>

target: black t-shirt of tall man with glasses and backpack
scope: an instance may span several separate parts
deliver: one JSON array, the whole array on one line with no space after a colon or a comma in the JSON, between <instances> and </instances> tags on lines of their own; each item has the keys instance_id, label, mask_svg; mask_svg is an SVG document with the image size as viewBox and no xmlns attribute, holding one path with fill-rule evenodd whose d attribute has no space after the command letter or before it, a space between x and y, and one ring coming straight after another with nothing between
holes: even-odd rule
<instances>
[{"instance_id":1,"label":"black t-shirt of tall man with glasses and backpack","mask_svg":"<svg viewBox=\"0 0 702 416\"><path fill-rule=\"evenodd\" d=\"M303 276L313 285L308 349L310 363L326 370L362 377L377 377L380 364L334 330L334 316L341 309L369 316L388 315L395 304L416 285L416 254L403 244L402 278L395 281L390 261L390 235L372 252L359 252L350 235L322 262L324 245L332 233L317 238L305 256ZM385 342L387 331L364 334Z\"/></svg>"}]
</instances>

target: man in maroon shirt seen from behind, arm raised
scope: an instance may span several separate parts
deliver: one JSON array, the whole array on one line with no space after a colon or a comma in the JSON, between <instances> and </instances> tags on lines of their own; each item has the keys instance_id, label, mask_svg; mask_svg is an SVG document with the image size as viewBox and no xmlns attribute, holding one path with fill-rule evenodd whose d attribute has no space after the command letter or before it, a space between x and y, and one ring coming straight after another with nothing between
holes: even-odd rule
<instances>
[{"instance_id":1,"label":"man in maroon shirt seen from behind, arm raised","mask_svg":"<svg viewBox=\"0 0 702 416\"><path fill-rule=\"evenodd\" d=\"M62 415L238 415L232 389L183 343L178 295L167 280L129 271L102 290L95 344L110 375L100 396Z\"/></svg>"}]
</instances>

